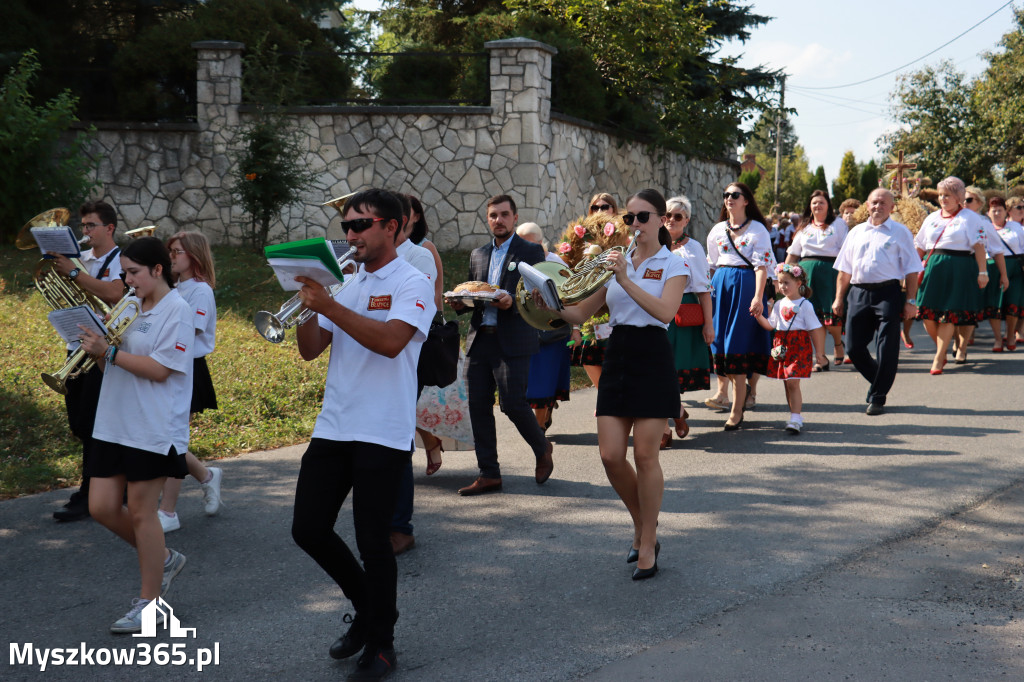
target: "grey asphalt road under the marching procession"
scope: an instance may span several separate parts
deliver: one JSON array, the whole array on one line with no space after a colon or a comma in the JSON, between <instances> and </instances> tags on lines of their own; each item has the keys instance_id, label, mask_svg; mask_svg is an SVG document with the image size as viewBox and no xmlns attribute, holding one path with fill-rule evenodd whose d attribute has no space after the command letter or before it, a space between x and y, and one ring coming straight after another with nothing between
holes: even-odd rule
<instances>
[{"instance_id":1,"label":"grey asphalt road under the marching procession","mask_svg":"<svg viewBox=\"0 0 1024 682\"><path fill-rule=\"evenodd\" d=\"M593 390L555 413L552 479L499 415L505 489L462 499L469 453L417 472L417 547L398 559L395 680L1024 678L1024 352L931 377L903 351L888 412L864 415L846 366L804 382L787 435L782 386L762 380L744 427L687 396L690 436L663 453L659 573L634 583L629 517L597 454ZM4 680L337 680L327 655L347 600L290 536L303 446L223 460L224 510L195 481L168 545L187 565L168 602L219 664L11 665L25 650L180 643L108 633L137 590L133 551L98 524L56 524L67 492L0 503ZM352 538L350 506L338 520Z\"/></svg>"}]
</instances>

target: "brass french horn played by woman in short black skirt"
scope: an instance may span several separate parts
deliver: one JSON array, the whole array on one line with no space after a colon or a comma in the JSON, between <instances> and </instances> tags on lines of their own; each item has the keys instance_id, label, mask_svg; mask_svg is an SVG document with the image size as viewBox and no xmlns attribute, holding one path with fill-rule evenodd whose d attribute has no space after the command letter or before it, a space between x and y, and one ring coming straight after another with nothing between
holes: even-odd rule
<instances>
[{"instance_id":1,"label":"brass french horn played by woman in short black skirt","mask_svg":"<svg viewBox=\"0 0 1024 682\"><path fill-rule=\"evenodd\" d=\"M547 274L555 283L562 305L575 305L592 296L612 278L614 273L608 267L608 257L612 252L629 253L637 241L637 235L639 231L634 232L629 246L611 247L593 258L580 261L573 268L551 261L537 263L534 267ZM515 305L522 318L536 329L553 330L564 327L566 324L554 311L537 307L521 279L515 288Z\"/></svg>"}]
</instances>

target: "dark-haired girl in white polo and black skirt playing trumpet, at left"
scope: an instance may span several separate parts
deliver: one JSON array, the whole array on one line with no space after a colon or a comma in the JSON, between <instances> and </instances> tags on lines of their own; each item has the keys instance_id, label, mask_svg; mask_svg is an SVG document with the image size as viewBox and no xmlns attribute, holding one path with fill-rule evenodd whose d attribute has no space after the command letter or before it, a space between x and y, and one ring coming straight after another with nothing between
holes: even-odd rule
<instances>
[{"instance_id":1,"label":"dark-haired girl in white polo and black skirt playing trumpet, at left","mask_svg":"<svg viewBox=\"0 0 1024 682\"><path fill-rule=\"evenodd\" d=\"M138 316L118 347L87 330L81 337L103 372L86 473L92 478L92 517L138 553L139 598L111 626L113 633L137 633L142 609L167 593L185 564L183 554L164 545L157 505L165 479L188 472L184 454L196 331L191 308L173 288L170 255L160 240L131 242L121 266L125 283L135 289Z\"/></svg>"}]
</instances>

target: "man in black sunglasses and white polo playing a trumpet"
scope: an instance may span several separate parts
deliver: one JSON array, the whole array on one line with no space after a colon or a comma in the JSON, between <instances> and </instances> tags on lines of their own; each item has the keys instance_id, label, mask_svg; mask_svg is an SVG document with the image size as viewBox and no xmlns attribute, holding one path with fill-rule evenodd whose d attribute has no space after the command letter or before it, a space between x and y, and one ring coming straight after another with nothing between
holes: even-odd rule
<instances>
[{"instance_id":1,"label":"man in black sunglasses and white polo playing a trumpet","mask_svg":"<svg viewBox=\"0 0 1024 682\"><path fill-rule=\"evenodd\" d=\"M367 189L348 200L341 227L359 270L332 297L302 283L302 303L319 313L297 331L305 360L331 347L324 407L302 456L292 538L342 589L355 609L333 658L362 651L349 680L379 680L395 666L398 569L390 526L416 429L416 364L434 315L433 285L397 255L400 200ZM352 493L362 565L335 531Z\"/></svg>"}]
</instances>

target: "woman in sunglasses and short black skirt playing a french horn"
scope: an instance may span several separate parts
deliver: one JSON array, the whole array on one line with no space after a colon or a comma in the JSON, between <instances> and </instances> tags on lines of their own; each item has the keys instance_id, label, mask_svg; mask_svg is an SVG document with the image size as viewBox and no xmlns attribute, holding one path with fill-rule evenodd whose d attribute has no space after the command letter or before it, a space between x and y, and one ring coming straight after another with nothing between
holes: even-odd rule
<instances>
[{"instance_id":1,"label":"woman in sunglasses and short black skirt playing a french horn","mask_svg":"<svg viewBox=\"0 0 1024 682\"><path fill-rule=\"evenodd\" d=\"M626 560L637 562L633 580L657 572L657 516L665 493L658 462L662 428L679 417L672 349L666 329L679 308L689 268L670 252L666 202L642 189L626 203L623 220L636 231L635 248L607 255L614 272L607 285L558 314L579 325L607 304L611 337L597 389L597 439L608 481L633 518L633 542ZM543 301L535 294L535 302ZM626 458L630 430L636 469Z\"/></svg>"}]
</instances>

